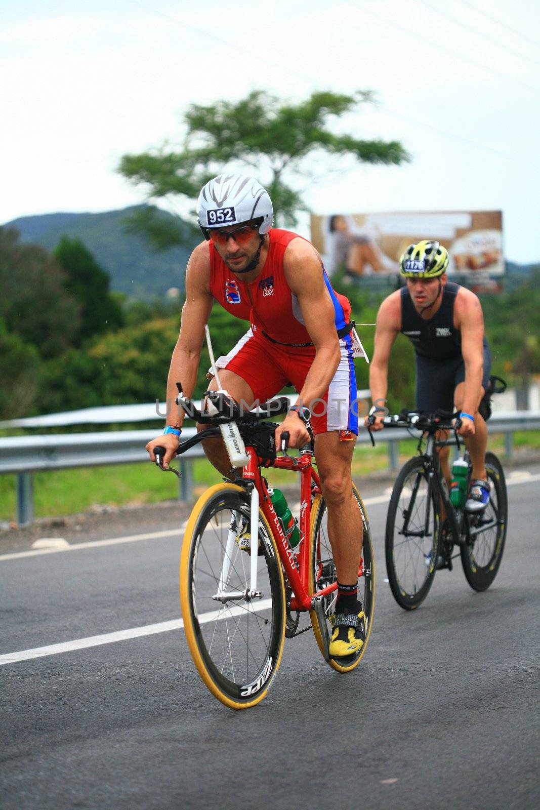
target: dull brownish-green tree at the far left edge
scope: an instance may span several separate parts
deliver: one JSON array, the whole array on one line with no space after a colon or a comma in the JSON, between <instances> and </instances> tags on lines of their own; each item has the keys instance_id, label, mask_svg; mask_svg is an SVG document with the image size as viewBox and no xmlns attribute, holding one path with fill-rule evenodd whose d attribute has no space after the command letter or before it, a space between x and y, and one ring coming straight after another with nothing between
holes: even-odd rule
<instances>
[{"instance_id":1,"label":"dull brownish-green tree at the far left edge","mask_svg":"<svg viewBox=\"0 0 540 810\"><path fill-rule=\"evenodd\" d=\"M62 354L79 330L79 305L64 281L53 256L21 245L16 228L0 228L0 317L44 358Z\"/></svg>"}]
</instances>

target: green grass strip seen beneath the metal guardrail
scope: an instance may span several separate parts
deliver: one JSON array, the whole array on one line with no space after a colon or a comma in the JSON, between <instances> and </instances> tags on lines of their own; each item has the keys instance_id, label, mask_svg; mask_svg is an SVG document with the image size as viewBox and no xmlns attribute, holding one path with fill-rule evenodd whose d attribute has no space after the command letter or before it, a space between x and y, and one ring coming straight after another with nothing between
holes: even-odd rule
<instances>
[{"instance_id":1,"label":"green grass strip seen beneath the metal guardrail","mask_svg":"<svg viewBox=\"0 0 540 810\"><path fill-rule=\"evenodd\" d=\"M490 437L489 448L503 454L504 437ZM514 433L515 448L540 448L540 431ZM400 464L415 454L416 441L399 443ZM355 451L352 472L359 475L389 468L388 446L363 445ZM266 471L270 484L294 484L295 476L285 470ZM81 467L73 470L37 472L34 476L34 514L36 518L83 512L92 505L145 504L175 499L178 496L176 476L164 474L153 464L119 464L111 467ZM198 497L206 487L222 477L204 458L193 462L193 490ZM0 520L15 518L15 475L0 475Z\"/></svg>"}]
</instances>

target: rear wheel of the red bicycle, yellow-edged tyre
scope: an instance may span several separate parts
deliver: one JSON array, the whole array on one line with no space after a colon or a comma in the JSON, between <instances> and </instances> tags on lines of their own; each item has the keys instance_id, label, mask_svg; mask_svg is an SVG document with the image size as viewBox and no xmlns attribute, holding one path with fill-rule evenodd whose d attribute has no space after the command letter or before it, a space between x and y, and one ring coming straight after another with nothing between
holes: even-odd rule
<instances>
[{"instance_id":1,"label":"rear wheel of the red bicycle, yellow-edged tyre","mask_svg":"<svg viewBox=\"0 0 540 810\"><path fill-rule=\"evenodd\" d=\"M348 672L358 666L368 646L369 635L372 632L373 609L375 607L375 557L373 555L368 516L362 498L359 496L359 492L354 484L353 493L356 501L358 501L364 525L362 565L360 566L360 575L358 578L358 598L361 600L364 610L363 629L365 641L364 646L354 655L347 656L347 658L327 659L330 667L338 672ZM328 533L327 507L322 495L316 495L313 499L309 534L309 550L311 556L310 593L313 595L317 590L322 590L325 586L331 585L336 581L336 566ZM333 590L328 596L322 599L321 609L311 610L309 612L317 645L325 657L332 635L330 616L333 616L335 613L337 596L337 590Z\"/></svg>"}]
</instances>

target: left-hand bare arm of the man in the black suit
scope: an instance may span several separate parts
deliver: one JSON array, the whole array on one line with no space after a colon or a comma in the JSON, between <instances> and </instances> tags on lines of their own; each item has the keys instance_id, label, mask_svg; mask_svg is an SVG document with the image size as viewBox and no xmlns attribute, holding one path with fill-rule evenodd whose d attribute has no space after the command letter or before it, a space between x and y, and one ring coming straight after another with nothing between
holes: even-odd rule
<instances>
[{"instance_id":1,"label":"left-hand bare arm of the man in the black suit","mask_svg":"<svg viewBox=\"0 0 540 810\"><path fill-rule=\"evenodd\" d=\"M402 328L402 296L397 290L385 298L376 317L375 351L369 364L369 389L372 403L384 407L388 391L388 364L393 342ZM381 430L383 416L376 416L372 430Z\"/></svg>"}]
</instances>

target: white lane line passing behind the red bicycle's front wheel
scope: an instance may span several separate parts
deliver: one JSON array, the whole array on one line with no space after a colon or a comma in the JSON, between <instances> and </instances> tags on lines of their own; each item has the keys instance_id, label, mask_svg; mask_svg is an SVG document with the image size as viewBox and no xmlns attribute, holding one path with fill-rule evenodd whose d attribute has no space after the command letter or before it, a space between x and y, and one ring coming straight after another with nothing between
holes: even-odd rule
<instances>
[{"instance_id":1,"label":"white lane line passing behind the red bicycle's front wheel","mask_svg":"<svg viewBox=\"0 0 540 810\"><path fill-rule=\"evenodd\" d=\"M271 599L261 599L261 602L251 603L253 611L266 610L272 605ZM235 607L224 610L219 608L215 611L203 613L198 617L199 625L206 625L209 621L222 621L240 616L245 613L245 608ZM17 653L6 653L0 655L0 666L5 663L15 663L17 661L28 661L34 658L43 658L46 655L57 655L68 653L71 650L85 650L87 647L98 647L102 644L113 644L114 642L124 642L128 638L141 638L142 636L153 636L155 633L168 633L170 630L179 630L184 627L182 619L172 619L162 621L159 625L146 625L144 627L132 627L128 630L118 630L117 633L104 633L102 636L89 636L87 638L77 638L73 642L62 642L61 644L51 644L46 647L34 647L33 650L21 650Z\"/></svg>"}]
</instances>

